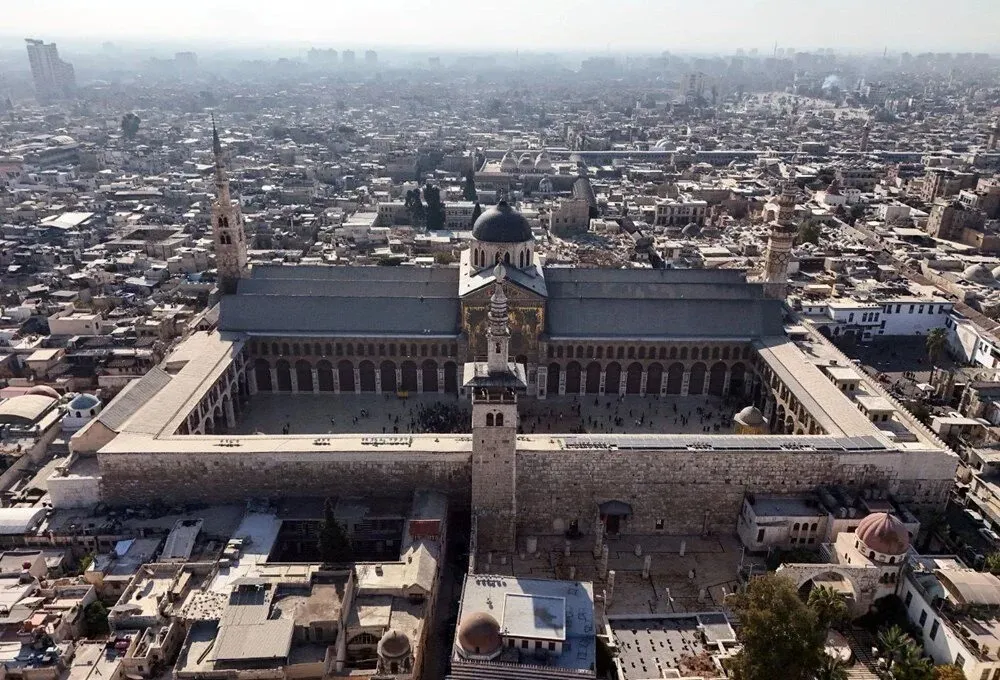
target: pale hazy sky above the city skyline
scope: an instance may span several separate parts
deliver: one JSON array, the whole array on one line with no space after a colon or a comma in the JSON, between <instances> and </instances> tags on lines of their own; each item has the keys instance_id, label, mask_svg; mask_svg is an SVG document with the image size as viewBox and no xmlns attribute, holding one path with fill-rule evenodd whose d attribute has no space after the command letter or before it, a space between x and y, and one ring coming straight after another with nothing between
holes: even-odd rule
<instances>
[{"instance_id":1,"label":"pale hazy sky above the city skyline","mask_svg":"<svg viewBox=\"0 0 1000 680\"><path fill-rule=\"evenodd\" d=\"M1000 0L5 0L7 37L358 47L1000 52Z\"/></svg>"}]
</instances>

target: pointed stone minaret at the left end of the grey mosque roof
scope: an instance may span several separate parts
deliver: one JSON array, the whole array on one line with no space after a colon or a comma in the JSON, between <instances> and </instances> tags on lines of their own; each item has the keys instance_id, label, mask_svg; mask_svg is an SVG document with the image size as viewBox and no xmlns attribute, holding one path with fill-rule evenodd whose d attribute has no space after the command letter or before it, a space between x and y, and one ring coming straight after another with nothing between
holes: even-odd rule
<instances>
[{"instance_id":1,"label":"pointed stone minaret at the left end of the grey mosque roof","mask_svg":"<svg viewBox=\"0 0 1000 680\"><path fill-rule=\"evenodd\" d=\"M229 178L222 161L222 144L212 117L212 151L215 154L215 201L212 203L212 238L215 242L215 267L219 292L231 295L236 284L247 275L247 239L243 213L229 195Z\"/></svg>"}]
</instances>

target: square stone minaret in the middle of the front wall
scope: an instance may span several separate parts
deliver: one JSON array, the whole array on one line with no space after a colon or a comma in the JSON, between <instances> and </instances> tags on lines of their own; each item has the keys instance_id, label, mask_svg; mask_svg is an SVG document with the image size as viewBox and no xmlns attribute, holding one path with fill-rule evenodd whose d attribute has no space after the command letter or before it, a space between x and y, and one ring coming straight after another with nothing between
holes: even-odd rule
<instances>
[{"instance_id":1,"label":"square stone minaret in the middle of the front wall","mask_svg":"<svg viewBox=\"0 0 1000 680\"><path fill-rule=\"evenodd\" d=\"M472 509L477 548L514 552L517 545L517 391L524 388L508 362L510 328L502 264L494 270L486 336L486 365L476 364L472 390Z\"/></svg>"}]
</instances>

